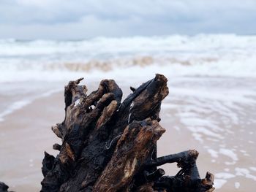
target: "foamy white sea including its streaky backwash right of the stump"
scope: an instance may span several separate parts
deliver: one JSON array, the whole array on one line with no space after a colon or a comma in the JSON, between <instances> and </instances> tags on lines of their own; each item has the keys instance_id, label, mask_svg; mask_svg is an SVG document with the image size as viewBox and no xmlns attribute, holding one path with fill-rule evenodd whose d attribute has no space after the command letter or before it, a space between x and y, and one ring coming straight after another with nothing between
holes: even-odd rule
<instances>
[{"instance_id":1,"label":"foamy white sea including its streaky backwash right of the stump","mask_svg":"<svg viewBox=\"0 0 256 192\"><path fill-rule=\"evenodd\" d=\"M170 91L162 103L165 126L208 155L217 189L250 191L256 186L254 35L0 39L0 131L8 115L63 91L69 80L108 78L129 88L157 73Z\"/></svg>"}]
</instances>

